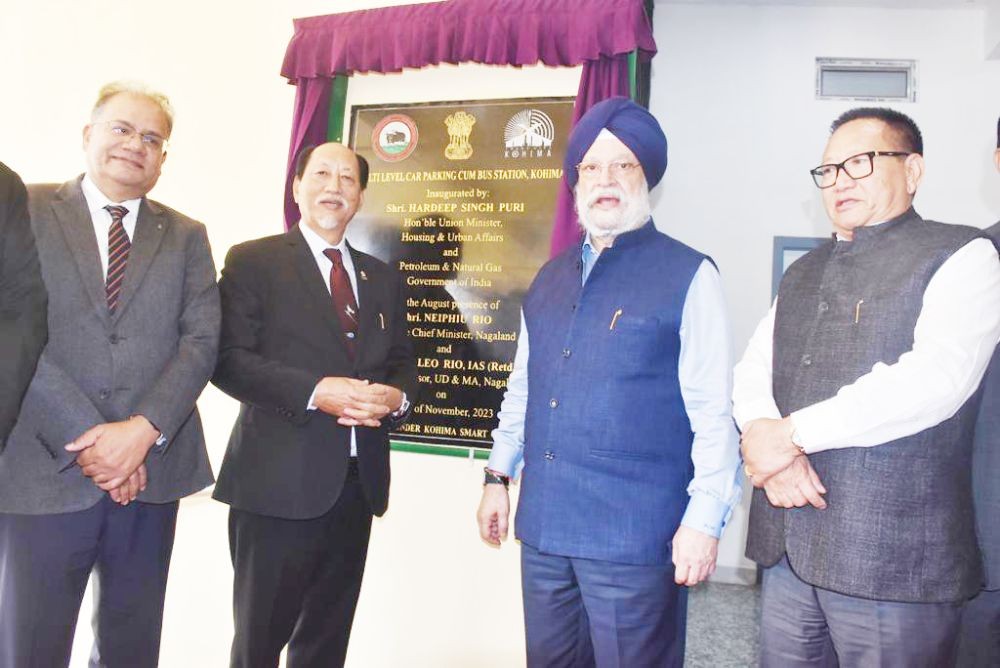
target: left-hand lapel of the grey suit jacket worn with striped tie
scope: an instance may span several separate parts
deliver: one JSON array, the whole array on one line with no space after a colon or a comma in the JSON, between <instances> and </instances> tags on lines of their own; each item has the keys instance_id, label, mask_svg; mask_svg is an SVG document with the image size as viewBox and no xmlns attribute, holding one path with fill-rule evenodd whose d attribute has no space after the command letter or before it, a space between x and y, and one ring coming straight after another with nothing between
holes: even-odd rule
<instances>
[{"instance_id":1,"label":"left-hand lapel of the grey suit jacket worn with striped tie","mask_svg":"<svg viewBox=\"0 0 1000 668\"><path fill-rule=\"evenodd\" d=\"M97 250L97 237L94 236L94 221L80 188L81 179L82 177L69 181L59 188L52 199L52 210L80 272L83 290L94 303L100 317L107 321L108 301L104 292L101 255Z\"/></svg>"}]
</instances>

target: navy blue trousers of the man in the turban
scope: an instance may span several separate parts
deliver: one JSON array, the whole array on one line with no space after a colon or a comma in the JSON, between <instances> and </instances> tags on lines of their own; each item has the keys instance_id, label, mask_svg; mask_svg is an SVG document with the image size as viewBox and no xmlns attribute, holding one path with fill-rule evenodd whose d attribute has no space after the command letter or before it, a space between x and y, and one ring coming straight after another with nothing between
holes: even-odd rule
<instances>
[{"instance_id":1,"label":"navy blue trousers of the man in the turban","mask_svg":"<svg viewBox=\"0 0 1000 668\"><path fill-rule=\"evenodd\" d=\"M521 544L529 668L661 668L684 663L687 590L674 567L539 552Z\"/></svg>"}]
</instances>

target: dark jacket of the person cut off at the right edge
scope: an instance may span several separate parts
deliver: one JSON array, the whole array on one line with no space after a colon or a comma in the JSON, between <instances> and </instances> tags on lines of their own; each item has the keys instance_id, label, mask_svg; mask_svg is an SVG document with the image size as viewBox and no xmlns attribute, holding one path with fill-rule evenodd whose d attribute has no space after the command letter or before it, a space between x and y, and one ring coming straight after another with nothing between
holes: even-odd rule
<instances>
[{"instance_id":1,"label":"dark jacket of the person cut off at the right edge","mask_svg":"<svg viewBox=\"0 0 1000 668\"><path fill-rule=\"evenodd\" d=\"M986 233L1000 247L1000 223ZM1000 589L1000 348L983 378L983 403L972 451L972 489L986 588Z\"/></svg>"}]
</instances>

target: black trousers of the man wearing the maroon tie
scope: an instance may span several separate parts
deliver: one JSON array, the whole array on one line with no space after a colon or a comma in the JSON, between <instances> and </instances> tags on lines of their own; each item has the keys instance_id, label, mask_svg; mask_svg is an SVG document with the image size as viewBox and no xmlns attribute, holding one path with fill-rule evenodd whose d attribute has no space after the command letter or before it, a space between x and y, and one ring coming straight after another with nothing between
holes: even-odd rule
<instances>
[{"instance_id":1,"label":"black trousers of the man wearing the maroon tie","mask_svg":"<svg viewBox=\"0 0 1000 668\"><path fill-rule=\"evenodd\" d=\"M372 514L352 464L325 515L289 520L229 511L234 668L343 666Z\"/></svg>"}]
</instances>

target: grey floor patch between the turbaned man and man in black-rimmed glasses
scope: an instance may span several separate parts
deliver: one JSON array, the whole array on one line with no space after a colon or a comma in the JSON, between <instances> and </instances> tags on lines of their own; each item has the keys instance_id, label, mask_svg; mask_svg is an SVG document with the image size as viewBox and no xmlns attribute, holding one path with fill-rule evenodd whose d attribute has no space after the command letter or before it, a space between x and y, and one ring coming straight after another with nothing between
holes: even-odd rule
<instances>
[{"instance_id":1,"label":"grey floor patch between the turbaned man and man in black-rimmed glasses","mask_svg":"<svg viewBox=\"0 0 1000 668\"><path fill-rule=\"evenodd\" d=\"M709 582L688 598L686 668L757 665L760 586Z\"/></svg>"}]
</instances>

